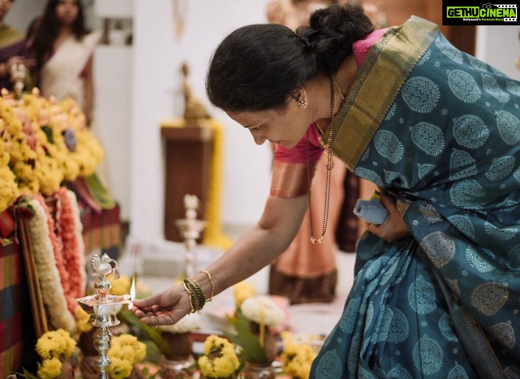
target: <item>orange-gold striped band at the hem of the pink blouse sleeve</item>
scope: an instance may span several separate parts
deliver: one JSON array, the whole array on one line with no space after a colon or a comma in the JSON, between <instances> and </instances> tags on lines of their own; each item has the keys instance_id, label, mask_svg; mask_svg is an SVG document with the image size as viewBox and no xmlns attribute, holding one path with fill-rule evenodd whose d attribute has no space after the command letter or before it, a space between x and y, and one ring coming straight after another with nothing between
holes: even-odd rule
<instances>
[{"instance_id":1,"label":"orange-gold striped band at the hem of the pink blouse sleeve","mask_svg":"<svg viewBox=\"0 0 520 379\"><path fill-rule=\"evenodd\" d=\"M317 162L311 163L311 172ZM271 196L296 198L307 193L307 165L277 161L272 165Z\"/></svg>"}]
</instances>

